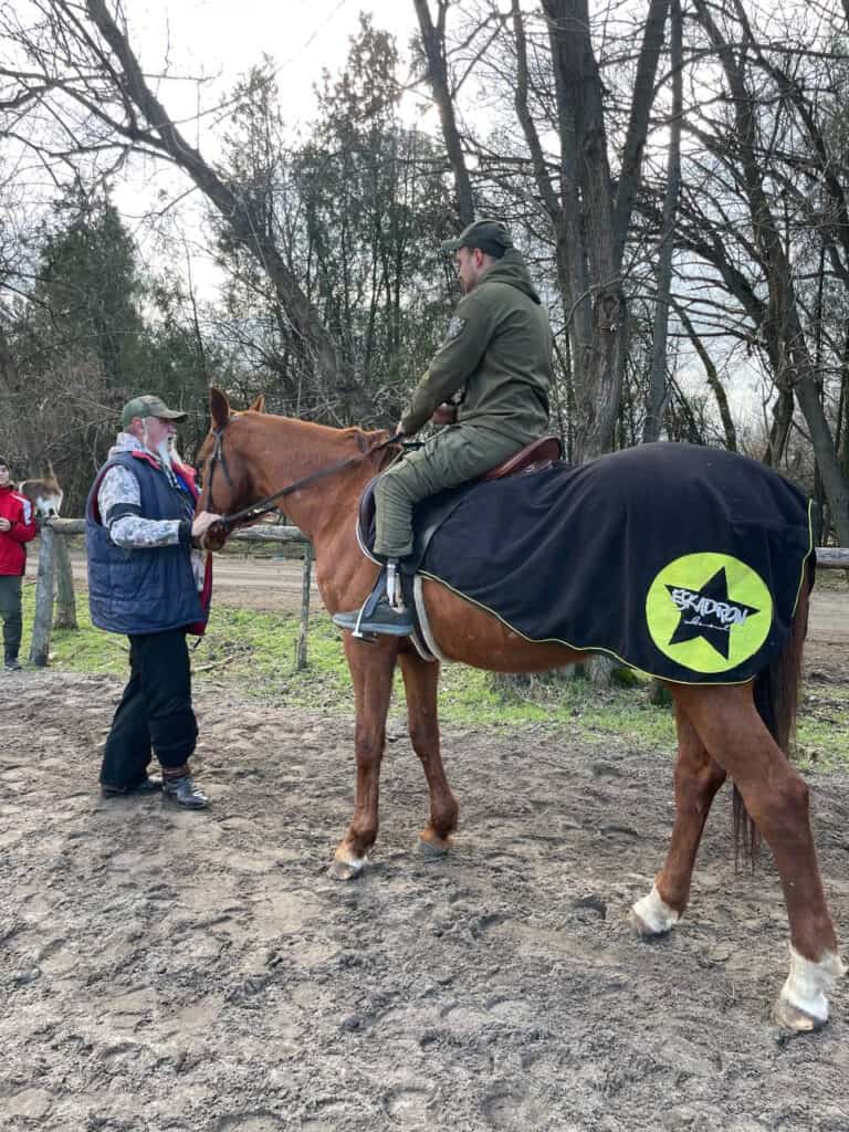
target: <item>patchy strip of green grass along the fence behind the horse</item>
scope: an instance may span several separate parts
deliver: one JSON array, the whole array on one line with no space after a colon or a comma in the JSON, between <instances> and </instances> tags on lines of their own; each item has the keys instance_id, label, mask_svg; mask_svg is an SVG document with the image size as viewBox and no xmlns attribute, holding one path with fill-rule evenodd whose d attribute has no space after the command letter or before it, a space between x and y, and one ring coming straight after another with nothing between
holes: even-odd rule
<instances>
[{"instance_id":1,"label":"patchy strip of green grass along the fence behind the horse","mask_svg":"<svg viewBox=\"0 0 849 1132\"><path fill-rule=\"evenodd\" d=\"M25 588L26 624L32 624L33 588ZM69 671L127 671L123 637L92 628L85 601L78 602L78 632L54 632L51 663ZM295 616L232 609L217 604L206 636L194 653L199 684L214 681L240 695L324 713L350 714L351 681L341 634L324 614L310 623L306 671L295 670L299 634ZM28 642L24 643L24 655ZM669 707L649 702L642 677L635 686L598 691L583 679L532 676L520 685L499 687L491 674L447 664L440 685L440 719L455 726L494 728L572 728L585 743L599 746L611 737L632 747L675 747L675 722ZM404 695L401 677L392 715L401 719ZM849 764L849 688L812 683L805 688L798 728L803 766L832 769Z\"/></svg>"}]
</instances>

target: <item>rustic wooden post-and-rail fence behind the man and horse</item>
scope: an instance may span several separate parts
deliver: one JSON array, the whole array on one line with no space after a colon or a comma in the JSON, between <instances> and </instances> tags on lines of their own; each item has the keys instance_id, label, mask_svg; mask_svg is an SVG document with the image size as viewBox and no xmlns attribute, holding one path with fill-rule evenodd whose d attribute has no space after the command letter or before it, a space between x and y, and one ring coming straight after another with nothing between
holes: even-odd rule
<instances>
[{"instance_id":1,"label":"rustic wooden post-and-rail fence behind the man and horse","mask_svg":"<svg viewBox=\"0 0 849 1132\"><path fill-rule=\"evenodd\" d=\"M57 575L60 574L60 612L62 602L67 606L74 601L70 563L65 539L69 534L85 533L83 518L49 518L41 526L41 549L38 551L38 576L35 586L35 619L33 623L33 640L29 649L29 662L37 668L44 668L50 652L50 633L53 627L53 600L57 590ZM299 669L307 667L307 633L309 629L309 591L312 576L312 547L307 537L297 526L274 526L261 523L248 526L230 537L235 542L269 542L303 548L303 586L301 591L301 627L298 635L295 663ZM67 567L62 566L67 564ZM817 547L817 569L849 569L848 547ZM65 569L67 568L67 577ZM68 591L70 590L70 593ZM66 609L67 614L67 609ZM71 617L71 621L74 618ZM59 624L62 624L60 617ZM67 624L67 621L66 621Z\"/></svg>"}]
</instances>

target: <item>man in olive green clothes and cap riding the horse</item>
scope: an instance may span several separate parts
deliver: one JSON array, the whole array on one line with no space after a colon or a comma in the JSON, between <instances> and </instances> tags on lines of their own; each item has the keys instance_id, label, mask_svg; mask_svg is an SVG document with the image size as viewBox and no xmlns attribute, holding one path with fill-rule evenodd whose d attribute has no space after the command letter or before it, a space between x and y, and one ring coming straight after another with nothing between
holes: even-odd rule
<instances>
[{"instance_id":1,"label":"man in olive green clothes and cap riding the horse","mask_svg":"<svg viewBox=\"0 0 849 1132\"><path fill-rule=\"evenodd\" d=\"M456 254L464 298L396 437L413 436L431 417L447 427L375 486L375 552L387 559L389 592L383 571L361 609L334 616L358 634L412 632L394 580L398 560L413 548L413 505L496 468L538 439L548 422L551 329L509 232L499 221L479 220L446 240L443 251Z\"/></svg>"}]
</instances>

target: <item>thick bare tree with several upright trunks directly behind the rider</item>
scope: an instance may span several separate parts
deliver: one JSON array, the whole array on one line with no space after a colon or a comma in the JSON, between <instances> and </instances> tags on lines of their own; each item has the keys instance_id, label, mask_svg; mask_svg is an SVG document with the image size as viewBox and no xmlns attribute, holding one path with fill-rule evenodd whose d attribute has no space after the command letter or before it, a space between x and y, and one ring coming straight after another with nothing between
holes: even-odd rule
<instances>
[{"instance_id":1,"label":"thick bare tree with several upright trunks directly behind the rider","mask_svg":"<svg viewBox=\"0 0 849 1132\"><path fill-rule=\"evenodd\" d=\"M441 105L453 94L452 118L456 121L456 92L448 79L452 54L446 46L445 10L439 0L439 19L430 20L428 5L414 0L426 42L436 36L435 54L443 69L441 85L434 86L435 100ZM557 280L564 303L574 375L574 447L572 455L581 461L608 451L619 412L623 374L627 352L627 302L621 280L621 263L642 173L642 158L649 129L649 118L655 94L658 60L663 43L663 27L669 0L652 0L643 23L642 45L636 65L634 93L621 148L618 179L610 169L606 123L603 84L592 43L592 20L586 0L541 0L543 34L548 43L543 65L552 83L554 121L538 121L540 94L533 89L529 62L528 14L518 0L513 0L509 16L494 5L468 6L464 28L457 45L455 67L466 74L480 62L500 27L497 54L512 53L515 72L512 78L516 120L530 153L530 172L538 199L550 225L556 250ZM462 5L457 6L462 8ZM494 28L496 31L494 31ZM512 43L507 38L512 34ZM483 44L480 37L483 36ZM534 43L539 52L539 42ZM470 58L471 57L471 58ZM434 79L434 67L429 75ZM549 98L550 92L542 95ZM441 100L441 102L440 102ZM542 131L555 128L558 153L552 160L546 154ZM478 143L480 145L480 143ZM451 138L446 134L446 147ZM487 173L498 174L490 156ZM505 171L511 161L504 161ZM515 168L515 160L513 161ZM456 172L456 170L455 170ZM526 185L526 182L525 182Z\"/></svg>"}]
</instances>

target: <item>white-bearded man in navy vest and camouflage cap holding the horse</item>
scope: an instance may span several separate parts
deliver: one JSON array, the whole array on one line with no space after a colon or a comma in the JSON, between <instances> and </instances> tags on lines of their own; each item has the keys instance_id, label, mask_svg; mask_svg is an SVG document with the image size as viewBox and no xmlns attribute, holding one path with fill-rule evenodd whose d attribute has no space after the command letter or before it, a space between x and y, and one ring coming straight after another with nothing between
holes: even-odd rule
<instances>
[{"instance_id":1,"label":"white-bearded man in navy vest and camouflage cap holding the horse","mask_svg":"<svg viewBox=\"0 0 849 1132\"><path fill-rule=\"evenodd\" d=\"M174 447L185 420L160 397L123 406L122 431L86 504L88 601L96 626L130 641L130 679L103 752L103 795L163 790L204 809L208 799L189 771L197 721L186 634L206 627L212 578L196 547L217 516L195 514L195 473ZM147 774L152 753L162 779Z\"/></svg>"}]
</instances>

